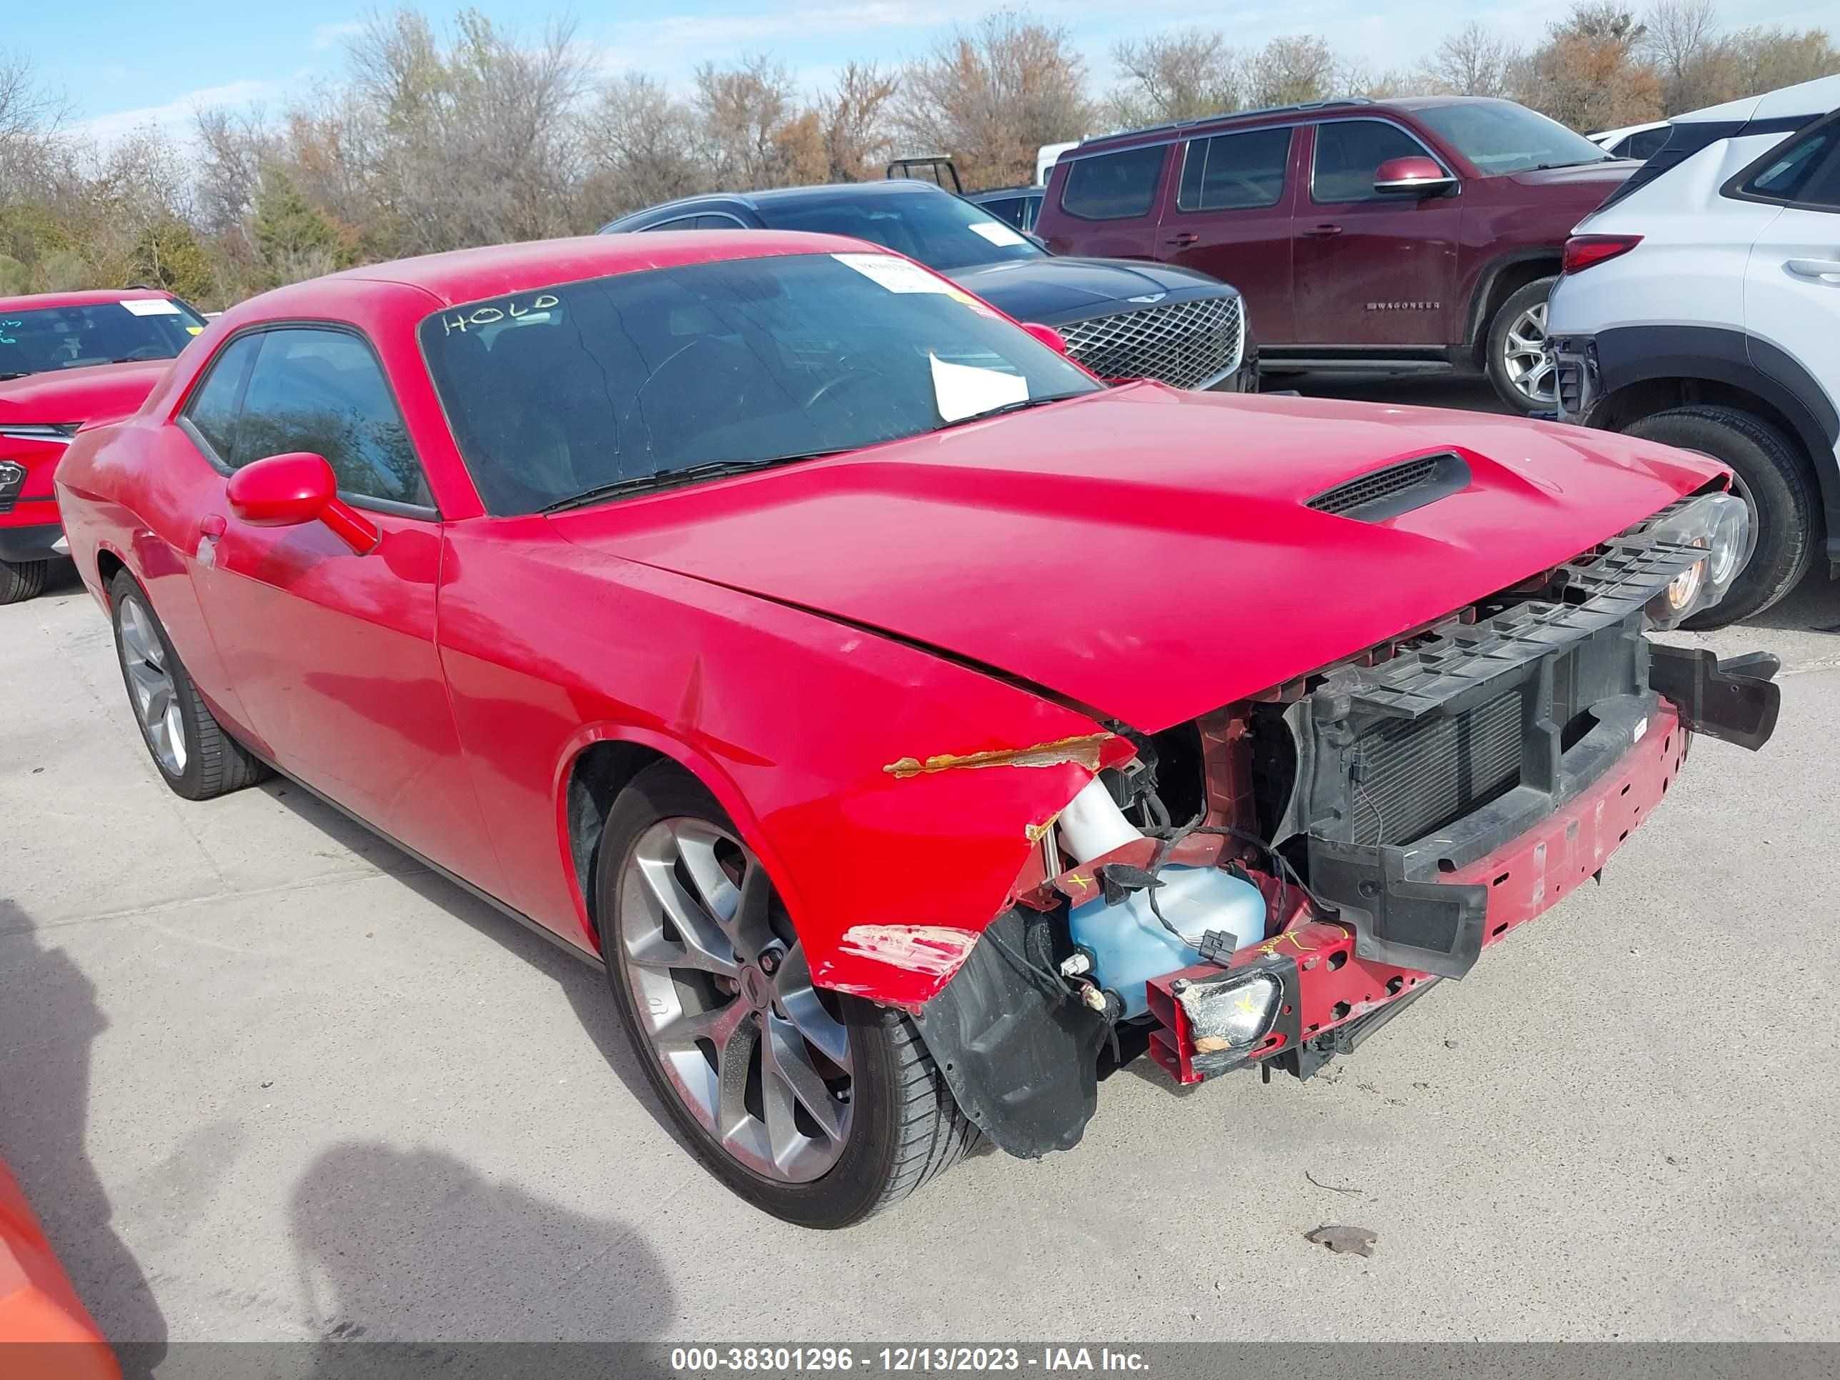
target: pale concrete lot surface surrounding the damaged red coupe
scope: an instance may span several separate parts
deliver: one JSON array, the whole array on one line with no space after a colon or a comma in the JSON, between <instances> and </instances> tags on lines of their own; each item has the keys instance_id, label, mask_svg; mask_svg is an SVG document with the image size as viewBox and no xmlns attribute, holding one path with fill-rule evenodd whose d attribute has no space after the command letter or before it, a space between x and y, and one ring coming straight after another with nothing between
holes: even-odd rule
<instances>
[{"instance_id":1,"label":"pale concrete lot surface surrounding the damaged red coupe","mask_svg":"<svg viewBox=\"0 0 1840 1380\"><path fill-rule=\"evenodd\" d=\"M1713 638L1783 653L1770 749L1354 1058L1124 1073L811 1235L672 1143L598 973L285 782L169 795L64 576L0 609L0 1156L116 1340L1836 1338L1836 629L1816 580Z\"/></svg>"}]
</instances>

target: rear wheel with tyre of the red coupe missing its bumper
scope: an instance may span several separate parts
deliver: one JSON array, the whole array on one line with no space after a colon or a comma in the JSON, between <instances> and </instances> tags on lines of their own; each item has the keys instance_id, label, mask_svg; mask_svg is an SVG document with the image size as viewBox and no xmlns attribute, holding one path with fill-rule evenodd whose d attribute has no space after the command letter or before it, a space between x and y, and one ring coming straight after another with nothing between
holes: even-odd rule
<instances>
[{"instance_id":1,"label":"rear wheel with tyre of the red coupe missing its bumper","mask_svg":"<svg viewBox=\"0 0 1840 1380\"><path fill-rule=\"evenodd\" d=\"M217 723L127 570L109 585L109 604L121 683L160 778L188 800L210 800L267 776L269 769Z\"/></svg>"}]
</instances>

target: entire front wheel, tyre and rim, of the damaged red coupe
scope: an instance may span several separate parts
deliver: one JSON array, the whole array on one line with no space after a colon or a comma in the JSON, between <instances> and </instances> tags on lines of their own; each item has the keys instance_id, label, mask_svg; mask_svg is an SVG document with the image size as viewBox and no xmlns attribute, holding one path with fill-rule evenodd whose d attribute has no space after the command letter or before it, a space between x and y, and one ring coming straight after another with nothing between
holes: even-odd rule
<instances>
[{"instance_id":1,"label":"entire front wheel, tyre and rim, of the damaged red coupe","mask_svg":"<svg viewBox=\"0 0 1840 1380\"><path fill-rule=\"evenodd\" d=\"M760 859L681 769L648 767L618 797L594 892L646 1075L742 1198L845 1227L964 1157L975 1130L913 1021L813 986Z\"/></svg>"}]
</instances>

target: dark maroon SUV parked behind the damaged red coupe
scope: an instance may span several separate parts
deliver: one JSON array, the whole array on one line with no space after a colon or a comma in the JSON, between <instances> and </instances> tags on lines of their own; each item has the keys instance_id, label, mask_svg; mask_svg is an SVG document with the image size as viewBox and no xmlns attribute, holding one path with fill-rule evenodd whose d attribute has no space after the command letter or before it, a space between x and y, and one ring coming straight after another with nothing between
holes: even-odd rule
<instances>
[{"instance_id":1,"label":"dark maroon SUV parked behind the damaged red coupe","mask_svg":"<svg viewBox=\"0 0 1840 1380\"><path fill-rule=\"evenodd\" d=\"M1036 232L1235 283L1266 374L1485 372L1538 412L1560 248L1636 167L1512 101L1319 101L1087 140Z\"/></svg>"}]
</instances>

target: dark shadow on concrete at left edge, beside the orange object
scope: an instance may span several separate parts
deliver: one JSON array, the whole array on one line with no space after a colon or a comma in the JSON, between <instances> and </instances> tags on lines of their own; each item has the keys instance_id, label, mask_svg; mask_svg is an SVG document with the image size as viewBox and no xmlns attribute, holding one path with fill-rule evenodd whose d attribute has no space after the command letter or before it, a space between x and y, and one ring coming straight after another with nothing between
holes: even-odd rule
<instances>
[{"instance_id":1,"label":"dark shadow on concrete at left edge, beside the orange object","mask_svg":"<svg viewBox=\"0 0 1840 1380\"><path fill-rule=\"evenodd\" d=\"M110 1343L129 1347L123 1371L134 1376L166 1354L167 1327L86 1154L90 1051L107 1029L88 975L0 898L0 1157L83 1306Z\"/></svg>"}]
</instances>

